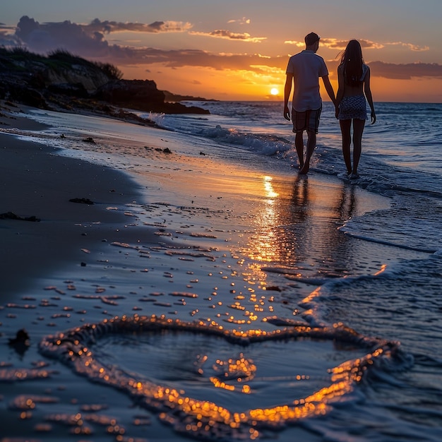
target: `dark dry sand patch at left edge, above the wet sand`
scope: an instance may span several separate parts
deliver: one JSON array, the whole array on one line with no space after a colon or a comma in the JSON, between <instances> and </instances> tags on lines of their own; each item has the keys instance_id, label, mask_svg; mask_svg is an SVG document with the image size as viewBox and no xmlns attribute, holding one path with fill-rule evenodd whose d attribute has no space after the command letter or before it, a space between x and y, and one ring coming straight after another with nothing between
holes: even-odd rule
<instances>
[{"instance_id":1,"label":"dark dry sand patch at left edge, above the wet sand","mask_svg":"<svg viewBox=\"0 0 442 442\"><path fill-rule=\"evenodd\" d=\"M3 129L37 131L46 126L13 115L0 117ZM54 148L0 133L0 214L36 217L40 222L0 220L0 297L32 283L48 268L82 261L91 241L115 233L121 213L106 210L139 196L134 181L122 173L89 162L61 157ZM85 198L94 204L73 203ZM90 223L87 235L78 227Z\"/></svg>"}]
</instances>

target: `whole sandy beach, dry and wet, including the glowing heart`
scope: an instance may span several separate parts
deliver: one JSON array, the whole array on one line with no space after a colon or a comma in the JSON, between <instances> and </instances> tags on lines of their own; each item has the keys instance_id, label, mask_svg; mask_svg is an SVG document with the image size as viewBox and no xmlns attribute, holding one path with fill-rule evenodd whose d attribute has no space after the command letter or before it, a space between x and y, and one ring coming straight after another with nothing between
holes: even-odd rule
<instances>
[{"instance_id":1,"label":"whole sandy beach, dry and wet, including the glowing heart","mask_svg":"<svg viewBox=\"0 0 442 442\"><path fill-rule=\"evenodd\" d=\"M319 429L359 383L410 369L393 336L316 303L426 256L338 229L390 198L198 136L22 110L1 117L0 212L38 220L0 220L1 441L334 440Z\"/></svg>"}]
</instances>

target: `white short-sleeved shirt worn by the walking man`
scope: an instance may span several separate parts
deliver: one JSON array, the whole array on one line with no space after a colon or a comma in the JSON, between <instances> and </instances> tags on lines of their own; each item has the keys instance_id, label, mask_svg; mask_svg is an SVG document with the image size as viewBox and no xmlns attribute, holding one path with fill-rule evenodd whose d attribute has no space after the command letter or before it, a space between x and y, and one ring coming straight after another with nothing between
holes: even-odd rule
<instances>
[{"instance_id":1,"label":"white short-sleeved shirt worn by the walking man","mask_svg":"<svg viewBox=\"0 0 442 442\"><path fill-rule=\"evenodd\" d=\"M293 109L297 112L319 109L322 106L319 77L328 76L324 59L304 49L290 57L286 73L292 73L294 78Z\"/></svg>"}]
</instances>

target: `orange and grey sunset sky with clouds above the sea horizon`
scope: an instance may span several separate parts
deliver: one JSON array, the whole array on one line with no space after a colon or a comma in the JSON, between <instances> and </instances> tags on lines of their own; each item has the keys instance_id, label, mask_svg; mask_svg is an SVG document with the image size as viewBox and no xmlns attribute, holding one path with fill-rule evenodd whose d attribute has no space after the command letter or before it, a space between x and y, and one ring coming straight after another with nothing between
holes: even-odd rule
<instances>
[{"instance_id":1,"label":"orange and grey sunset sky with clouds above the sea horizon","mask_svg":"<svg viewBox=\"0 0 442 442\"><path fill-rule=\"evenodd\" d=\"M441 18L441 0L13 0L0 45L66 49L181 95L282 100L288 58L314 31L335 88L356 38L375 101L442 102Z\"/></svg>"}]
</instances>

